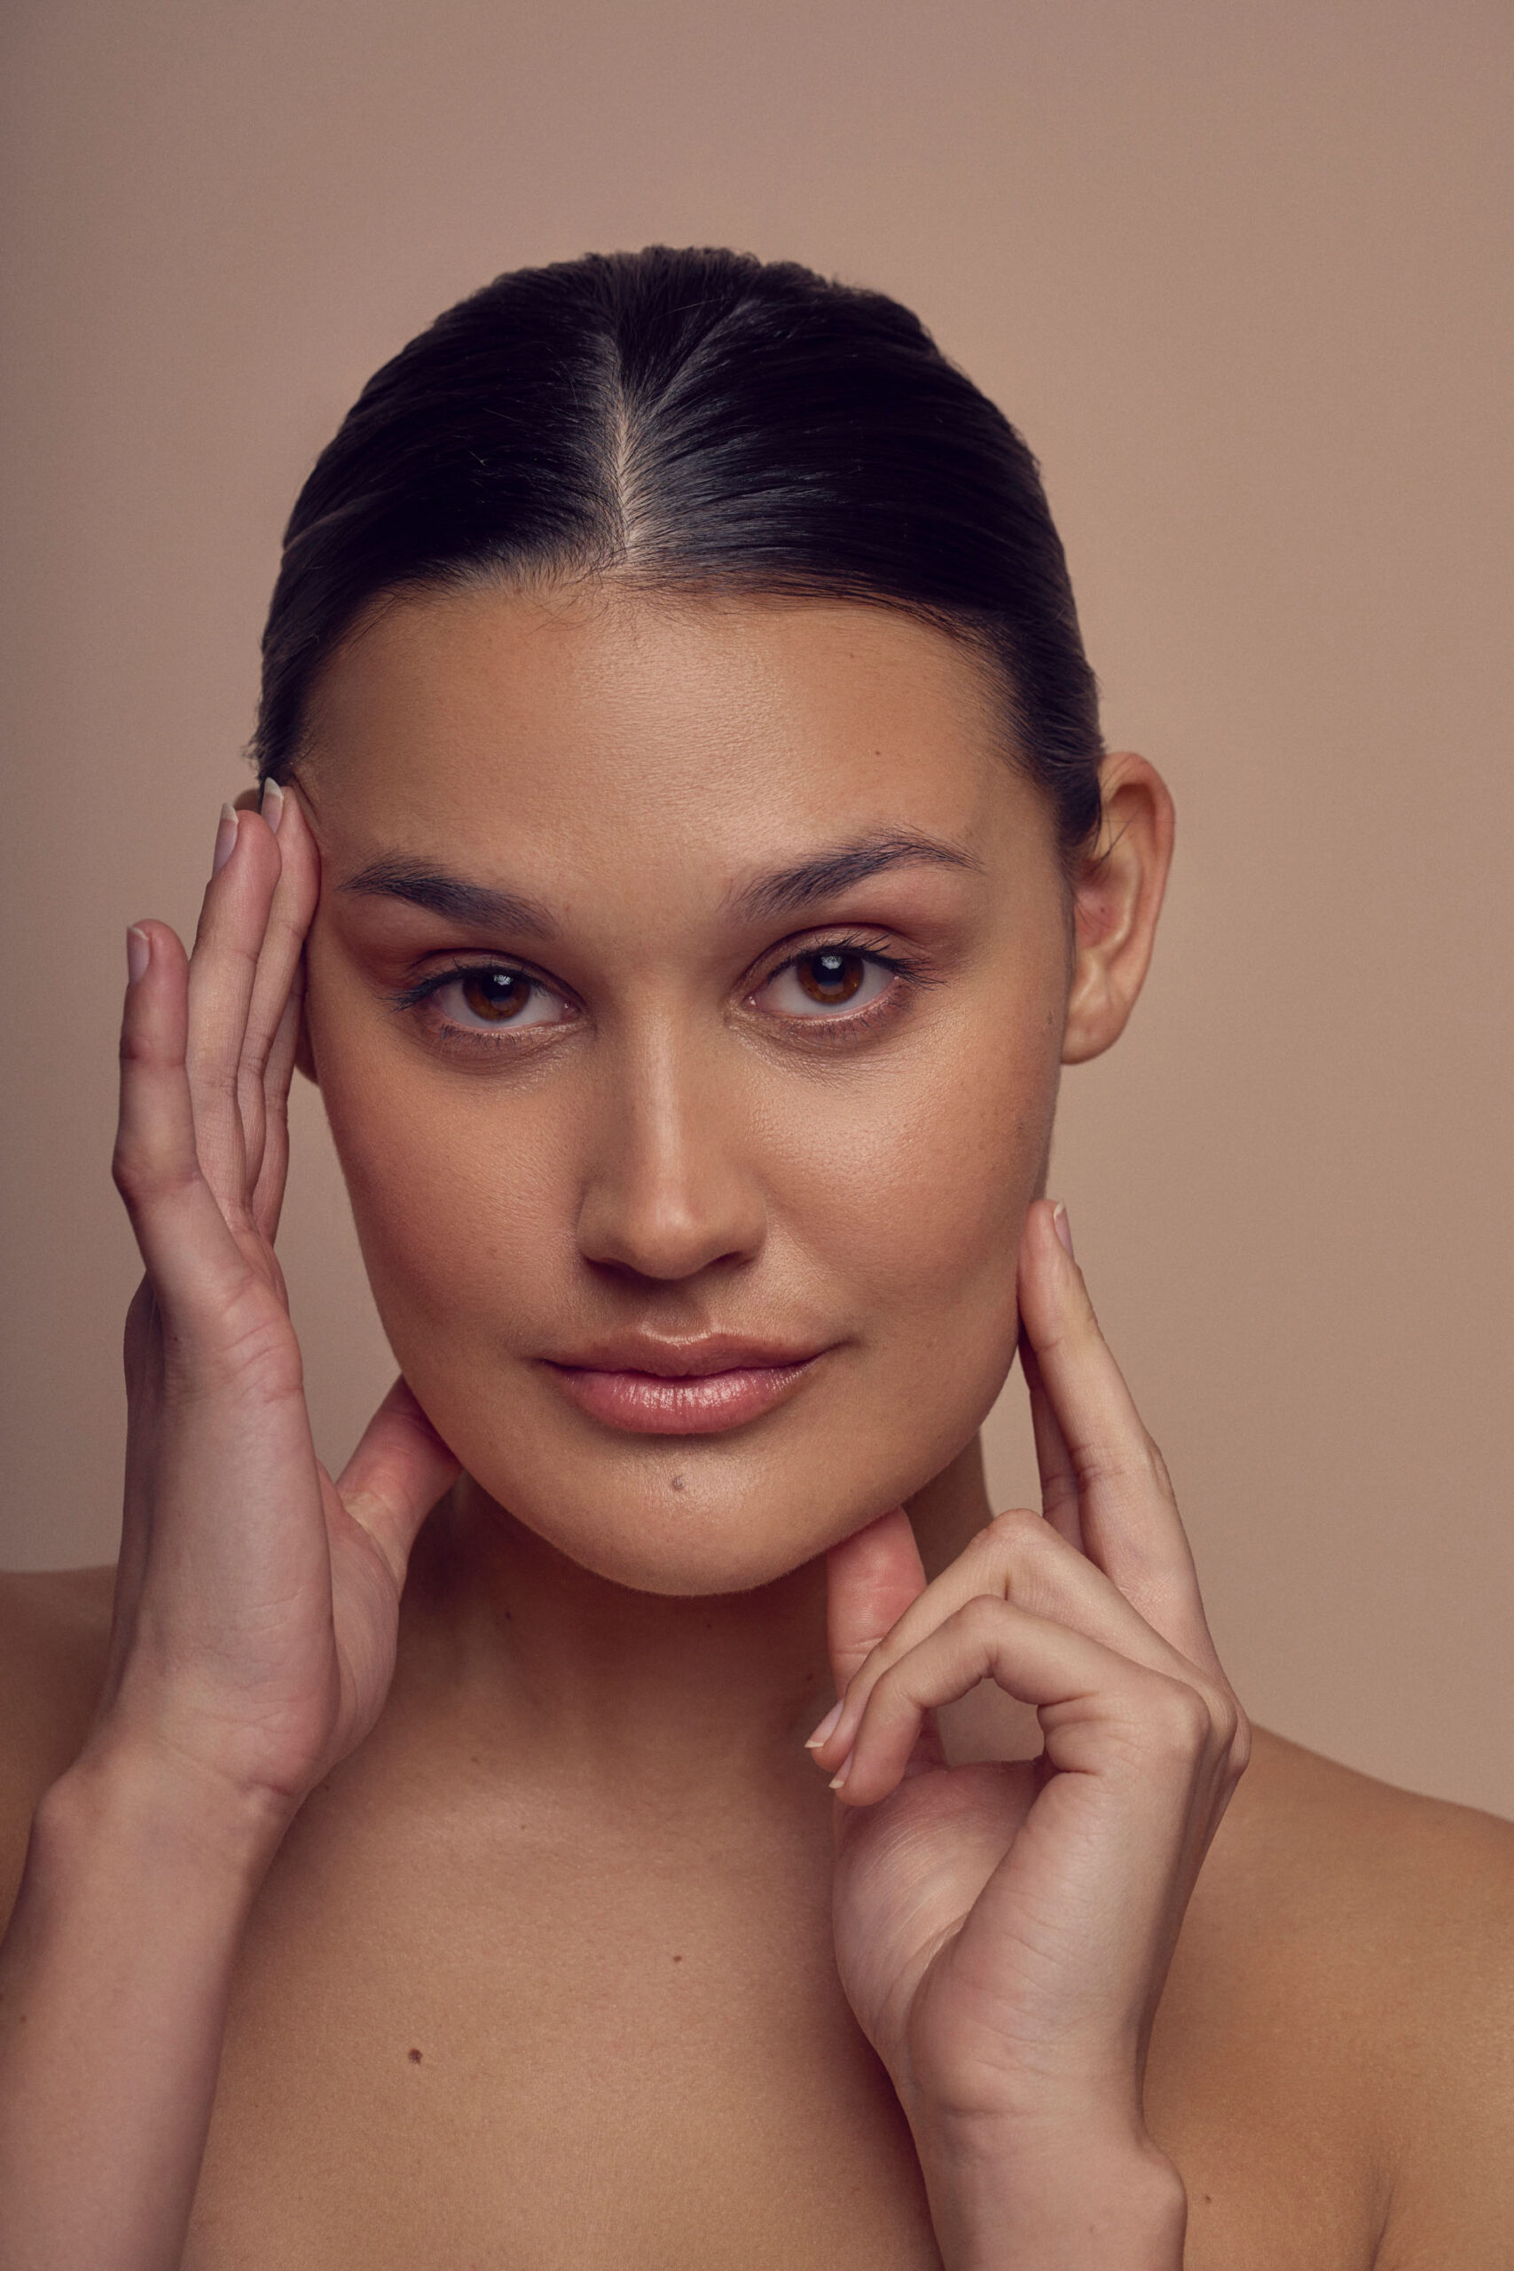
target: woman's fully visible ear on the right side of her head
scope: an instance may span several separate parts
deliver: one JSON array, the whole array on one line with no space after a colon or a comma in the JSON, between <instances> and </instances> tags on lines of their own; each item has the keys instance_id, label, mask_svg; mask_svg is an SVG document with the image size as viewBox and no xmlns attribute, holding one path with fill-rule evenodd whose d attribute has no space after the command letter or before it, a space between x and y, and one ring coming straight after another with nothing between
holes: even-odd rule
<instances>
[{"instance_id":1,"label":"woman's fully visible ear on the right side of her head","mask_svg":"<svg viewBox=\"0 0 1514 2271\"><path fill-rule=\"evenodd\" d=\"M1099 840L1074 879L1065 1065L1101 1056L1124 1033L1151 963L1171 865L1174 808L1155 765L1128 752L1105 756L1099 788Z\"/></svg>"}]
</instances>

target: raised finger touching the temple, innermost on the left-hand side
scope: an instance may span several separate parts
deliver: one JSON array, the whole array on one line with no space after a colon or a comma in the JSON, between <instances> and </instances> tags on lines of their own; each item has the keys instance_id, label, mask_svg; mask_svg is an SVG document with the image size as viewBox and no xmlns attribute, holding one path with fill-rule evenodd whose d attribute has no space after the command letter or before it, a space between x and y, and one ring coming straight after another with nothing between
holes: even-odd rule
<instances>
[{"instance_id":1,"label":"raised finger touching the temple, innermost on the left-hand side","mask_svg":"<svg viewBox=\"0 0 1514 2271\"><path fill-rule=\"evenodd\" d=\"M272 1213L277 1224L284 1201L286 1149L284 1106L293 1074L293 1042L288 1033L288 1004L300 986L304 938L316 913L320 890L320 865L316 838L304 820L300 797L293 788L268 781L263 788L261 818L279 847L279 881L268 908L263 942L252 979L247 1004L247 1029L238 1065L238 1111L247 1154L250 1208L256 1220ZM281 1038L286 1049L279 1051ZM268 1142L275 1145L275 1174L263 1176L268 1165Z\"/></svg>"}]
</instances>

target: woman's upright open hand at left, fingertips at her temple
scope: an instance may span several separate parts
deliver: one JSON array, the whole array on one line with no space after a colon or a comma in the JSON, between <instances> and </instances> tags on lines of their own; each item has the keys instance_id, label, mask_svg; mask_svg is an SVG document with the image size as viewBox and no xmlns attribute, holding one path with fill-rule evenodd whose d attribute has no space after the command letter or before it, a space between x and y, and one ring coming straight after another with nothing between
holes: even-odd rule
<instances>
[{"instance_id":1,"label":"woman's upright open hand at left, fingertips at her temple","mask_svg":"<svg viewBox=\"0 0 1514 2271\"><path fill-rule=\"evenodd\" d=\"M424 1515L456 1474L404 1381L334 1483L275 1231L320 861L300 795L222 813L193 954L127 938L116 1183L132 1301L109 1674L86 1753L143 1753L275 1833L375 1724Z\"/></svg>"}]
</instances>

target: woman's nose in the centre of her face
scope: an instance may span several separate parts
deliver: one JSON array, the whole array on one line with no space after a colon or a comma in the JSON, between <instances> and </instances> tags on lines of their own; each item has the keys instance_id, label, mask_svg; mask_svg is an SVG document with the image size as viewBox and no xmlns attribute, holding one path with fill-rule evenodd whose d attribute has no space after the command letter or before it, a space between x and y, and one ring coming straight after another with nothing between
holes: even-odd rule
<instances>
[{"instance_id":1,"label":"woman's nose in the centre of her face","mask_svg":"<svg viewBox=\"0 0 1514 2271\"><path fill-rule=\"evenodd\" d=\"M674 1281L758 1254L767 1204L729 1067L651 1045L595 1104L579 1206L588 1263Z\"/></svg>"}]
</instances>

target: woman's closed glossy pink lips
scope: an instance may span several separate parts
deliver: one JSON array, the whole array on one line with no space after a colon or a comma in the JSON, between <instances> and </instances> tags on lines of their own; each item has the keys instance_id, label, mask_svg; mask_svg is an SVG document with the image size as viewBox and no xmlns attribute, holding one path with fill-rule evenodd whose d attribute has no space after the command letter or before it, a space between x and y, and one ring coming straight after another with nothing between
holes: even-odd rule
<instances>
[{"instance_id":1,"label":"woman's closed glossy pink lips","mask_svg":"<svg viewBox=\"0 0 1514 2271\"><path fill-rule=\"evenodd\" d=\"M563 1394L631 1435L720 1435L785 1403L824 1349L708 1333L701 1340L624 1335L542 1358Z\"/></svg>"}]
</instances>

